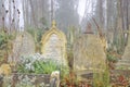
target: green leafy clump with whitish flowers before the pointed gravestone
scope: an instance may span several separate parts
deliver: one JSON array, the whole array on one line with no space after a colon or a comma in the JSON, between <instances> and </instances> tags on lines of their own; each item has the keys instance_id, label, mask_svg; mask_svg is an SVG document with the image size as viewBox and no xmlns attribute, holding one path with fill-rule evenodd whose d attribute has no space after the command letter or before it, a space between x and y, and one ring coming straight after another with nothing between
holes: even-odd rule
<instances>
[{"instance_id":1,"label":"green leafy clump with whitish flowers before the pointed gravestone","mask_svg":"<svg viewBox=\"0 0 130 87\"><path fill-rule=\"evenodd\" d=\"M62 74L66 74L68 72L67 66L55 60L44 59L39 53L22 57L20 61L21 63L17 65L18 73L51 74L53 71L61 71Z\"/></svg>"}]
</instances>

